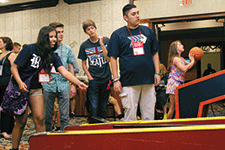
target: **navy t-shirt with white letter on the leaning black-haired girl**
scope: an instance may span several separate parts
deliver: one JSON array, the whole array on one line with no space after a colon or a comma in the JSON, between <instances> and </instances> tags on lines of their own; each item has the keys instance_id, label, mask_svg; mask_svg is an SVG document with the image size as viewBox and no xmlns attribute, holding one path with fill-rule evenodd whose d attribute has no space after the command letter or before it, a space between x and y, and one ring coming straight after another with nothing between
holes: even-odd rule
<instances>
[{"instance_id":1,"label":"navy t-shirt with white letter on the leaning black-haired girl","mask_svg":"<svg viewBox=\"0 0 225 150\"><path fill-rule=\"evenodd\" d=\"M36 45L30 44L25 46L16 57L14 61L19 66L18 72L22 81L28 79L41 65L41 57L36 52ZM52 63L55 68L63 66L59 56L56 53L52 53ZM41 69L40 69L41 70ZM12 79L13 84L17 85L15 79ZM38 82L38 73L36 73L30 83L31 89L42 88L41 83Z\"/></svg>"}]
</instances>

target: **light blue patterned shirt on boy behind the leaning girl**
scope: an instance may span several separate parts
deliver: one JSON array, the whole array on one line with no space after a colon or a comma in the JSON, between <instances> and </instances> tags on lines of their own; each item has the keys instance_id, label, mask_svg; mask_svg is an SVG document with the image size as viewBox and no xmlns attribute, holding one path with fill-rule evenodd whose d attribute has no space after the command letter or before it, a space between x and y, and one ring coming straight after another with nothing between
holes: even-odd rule
<instances>
[{"instance_id":1,"label":"light blue patterned shirt on boy behind the leaning girl","mask_svg":"<svg viewBox=\"0 0 225 150\"><path fill-rule=\"evenodd\" d=\"M73 64L76 61L72 49L66 44L63 44L61 51L60 43L55 53L57 53L60 58L62 57L61 61L66 69L68 68L68 64ZM42 86L44 90L48 92L56 93L69 91L69 81L65 79L61 74L51 74L51 82L42 83Z\"/></svg>"}]
</instances>

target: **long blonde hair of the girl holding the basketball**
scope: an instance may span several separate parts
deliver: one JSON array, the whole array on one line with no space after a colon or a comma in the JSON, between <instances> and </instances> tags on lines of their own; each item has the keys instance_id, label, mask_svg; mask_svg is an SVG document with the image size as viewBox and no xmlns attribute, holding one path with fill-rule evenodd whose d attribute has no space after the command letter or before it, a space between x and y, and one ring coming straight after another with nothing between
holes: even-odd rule
<instances>
[{"instance_id":1,"label":"long blonde hair of the girl holding the basketball","mask_svg":"<svg viewBox=\"0 0 225 150\"><path fill-rule=\"evenodd\" d=\"M170 69L171 69L171 65L173 63L173 58L178 55L178 52L177 52L177 44L178 43L181 43L181 41L176 40L170 44L169 53L168 53L168 65L167 65L168 71L170 71Z\"/></svg>"}]
</instances>

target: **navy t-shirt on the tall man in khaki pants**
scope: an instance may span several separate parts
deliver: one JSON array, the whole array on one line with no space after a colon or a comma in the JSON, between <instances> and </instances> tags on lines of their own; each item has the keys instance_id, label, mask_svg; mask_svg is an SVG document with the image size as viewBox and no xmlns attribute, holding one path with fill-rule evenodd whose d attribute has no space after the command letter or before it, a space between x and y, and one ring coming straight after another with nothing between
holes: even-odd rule
<instances>
[{"instance_id":1,"label":"navy t-shirt on the tall man in khaki pants","mask_svg":"<svg viewBox=\"0 0 225 150\"><path fill-rule=\"evenodd\" d=\"M124 26L112 33L108 45L108 56L119 57L122 86L153 84L155 68L152 56L159 51L156 36L152 29L141 25L140 30L139 28L130 29L130 32ZM131 35L134 42L141 41L142 38L144 55L134 56Z\"/></svg>"}]
</instances>

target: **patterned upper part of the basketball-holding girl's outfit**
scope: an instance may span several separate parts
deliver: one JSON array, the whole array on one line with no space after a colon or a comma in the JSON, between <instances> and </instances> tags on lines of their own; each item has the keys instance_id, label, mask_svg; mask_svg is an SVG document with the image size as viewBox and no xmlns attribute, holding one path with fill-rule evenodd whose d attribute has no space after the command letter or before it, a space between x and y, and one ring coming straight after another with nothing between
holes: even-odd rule
<instances>
[{"instance_id":1,"label":"patterned upper part of the basketball-holding girl's outfit","mask_svg":"<svg viewBox=\"0 0 225 150\"><path fill-rule=\"evenodd\" d=\"M185 65L184 61L181 59L181 63ZM178 69L175 65L172 65L169 78L173 78L176 81L184 82L185 81L185 72Z\"/></svg>"}]
</instances>

